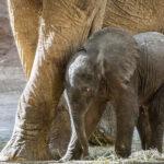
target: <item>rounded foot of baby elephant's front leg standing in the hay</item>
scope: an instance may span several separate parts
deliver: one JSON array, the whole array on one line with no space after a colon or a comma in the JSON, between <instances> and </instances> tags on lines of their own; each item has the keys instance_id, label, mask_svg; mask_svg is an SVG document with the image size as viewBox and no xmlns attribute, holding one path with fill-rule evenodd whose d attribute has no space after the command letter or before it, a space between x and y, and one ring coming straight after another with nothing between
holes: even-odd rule
<instances>
[{"instance_id":1,"label":"rounded foot of baby elephant's front leg standing in the hay","mask_svg":"<svg viewBox=\"0 0 164 164\"><path fill-rule=\"evenodd\" d=\"M116 154L120 157L128 157L131 154L131 150L125 145L116 147Z\"/></svg>"}]
</instances>

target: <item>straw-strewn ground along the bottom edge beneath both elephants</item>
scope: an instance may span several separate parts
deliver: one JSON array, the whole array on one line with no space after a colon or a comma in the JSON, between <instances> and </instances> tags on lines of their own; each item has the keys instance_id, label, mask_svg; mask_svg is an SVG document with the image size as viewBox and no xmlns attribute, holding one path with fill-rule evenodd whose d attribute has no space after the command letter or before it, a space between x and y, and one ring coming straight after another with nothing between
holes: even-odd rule
<instances>
[{"instance_id":1,"label":"straw-strewn ground along the bottom edge beneath both elephants","mask_svg":"<svg viewBox=\"0 0 164 164\"><path fill-rule=\"evenodd\" d=\"M26 162L25 164L48 164L57 163L55 161L47 162ZM137 151L132 152L129 159L119 159L115 154L112 147L94 147L90 148L90 159L87 161L71 161L70 164L164 164L164 154L159 154L157 151ZM1 163L0 164L7 164ZM19 164L19 163L16 163Z\"/></svg>"}]
</instances>

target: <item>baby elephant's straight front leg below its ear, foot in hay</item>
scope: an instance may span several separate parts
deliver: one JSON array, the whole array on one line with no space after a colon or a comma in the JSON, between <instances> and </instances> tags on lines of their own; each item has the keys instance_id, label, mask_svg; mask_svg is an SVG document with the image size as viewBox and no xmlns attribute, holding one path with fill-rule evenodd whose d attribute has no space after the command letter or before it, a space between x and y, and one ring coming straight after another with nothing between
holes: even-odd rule
<instances>
[{"instance_id":1,"label":"baby elephant's straight front leg below its ear, foot in hay","mask_svg":"<svg viewBox=\"0 0 164 164\"><path fill-rule=\"evenodd\" d=\"M116 153L128 157L131 153L132 134L138 118L138 103L133 91L125 91L116 101L117 137Z\"/></svg>"}]
</instances>

